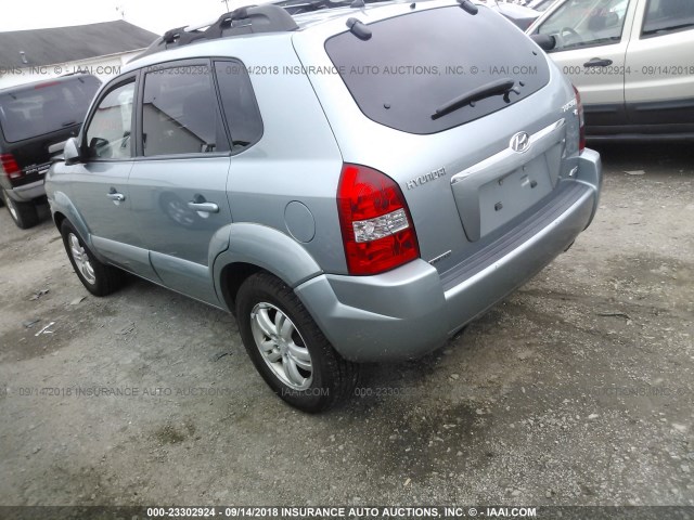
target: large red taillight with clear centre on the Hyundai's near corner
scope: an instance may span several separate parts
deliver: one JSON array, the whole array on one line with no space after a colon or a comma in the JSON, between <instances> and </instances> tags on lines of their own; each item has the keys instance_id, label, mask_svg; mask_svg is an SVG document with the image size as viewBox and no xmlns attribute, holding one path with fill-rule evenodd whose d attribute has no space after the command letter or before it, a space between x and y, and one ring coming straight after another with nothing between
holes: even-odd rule
<instances>
[{"instance_id":1,"label":"large red taillight with clear centre on the Hyundai's near corner","mask_svg":"<svg viewBox=\"0 0 694 520\"><path fill-rule=\"evenodd\" d=\"M349 274L377 274L420 257L400 187L384 173L344 165L337 212Z\"/></svg>"}]
</instances>

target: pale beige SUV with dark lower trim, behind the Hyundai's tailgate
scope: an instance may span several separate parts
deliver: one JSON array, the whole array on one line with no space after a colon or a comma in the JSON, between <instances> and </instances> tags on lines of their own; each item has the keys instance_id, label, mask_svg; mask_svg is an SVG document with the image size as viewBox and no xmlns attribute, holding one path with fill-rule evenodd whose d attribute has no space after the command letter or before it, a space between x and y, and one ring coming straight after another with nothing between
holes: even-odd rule
<instances>
[{"instance_id":1,"label":"pale beige SUV with dark lower trim, behind the Hyundai's tailgate","mask_svg":"<svg viewBox=\"0 0 694 520\"><path fill-rule=\"evenodd\" d=\"M551 38L589 138L694 139L691 0L558 0L528 34Z\"/></svg>"}]
</instances>

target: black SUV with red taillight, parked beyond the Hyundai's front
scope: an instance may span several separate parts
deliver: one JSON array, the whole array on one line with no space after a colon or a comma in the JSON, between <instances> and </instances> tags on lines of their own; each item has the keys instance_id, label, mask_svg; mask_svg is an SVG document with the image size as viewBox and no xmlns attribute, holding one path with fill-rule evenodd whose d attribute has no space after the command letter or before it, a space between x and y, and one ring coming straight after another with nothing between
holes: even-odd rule
<instances>
[{"instance_id":1,"label":"black SUV with red taillight, parked beyond the Hyundai's front","mask_svg":"<svg viewBox=\"0 0 694 520\"><path fill-rule=\"evenodd\" d=\"M80 74L0 89L0 192L17 226L38 222L49 147L77 135L100 84Z\"/></svg>"}]
</instances>

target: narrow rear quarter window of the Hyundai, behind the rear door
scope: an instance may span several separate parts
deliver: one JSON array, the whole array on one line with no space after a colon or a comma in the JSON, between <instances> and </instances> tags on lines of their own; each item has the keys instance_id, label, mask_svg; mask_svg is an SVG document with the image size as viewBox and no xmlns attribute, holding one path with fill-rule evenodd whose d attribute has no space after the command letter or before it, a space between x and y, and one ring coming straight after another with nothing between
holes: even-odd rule
<instances>
[{"instance_id":1,"label":"narrow rear quarter window of the Hyundai, behind the rear door","mask_svg":"<svg viewBox=\"0 0 694 520\"><path fill-rule=\"evenodd\" d=\"M239 62L216 62L221 106L233 152L256 143L262 136L262 119L246 67Z\"/></svg>"}]
</instances>

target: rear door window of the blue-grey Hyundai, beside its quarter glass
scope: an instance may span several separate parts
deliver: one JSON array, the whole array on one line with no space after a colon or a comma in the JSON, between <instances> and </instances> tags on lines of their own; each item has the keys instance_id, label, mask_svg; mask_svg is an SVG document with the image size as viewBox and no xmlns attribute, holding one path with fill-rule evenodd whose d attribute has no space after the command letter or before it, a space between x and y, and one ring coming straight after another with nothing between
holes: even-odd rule
<instances>
[{"instance_id":1,"label":"rear door window of the blue-grey Hyundai, beside its quarter glass","mask_svg":"<svg viewBox=\"0 0 694 520\"><path fill-rule=\"evenodd\" d=\"M229 151L207 66L171 67L145 75L142 150L146 157Z\"/></svg>"}]
</instances>

